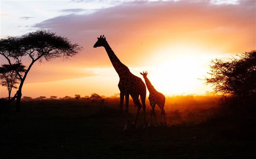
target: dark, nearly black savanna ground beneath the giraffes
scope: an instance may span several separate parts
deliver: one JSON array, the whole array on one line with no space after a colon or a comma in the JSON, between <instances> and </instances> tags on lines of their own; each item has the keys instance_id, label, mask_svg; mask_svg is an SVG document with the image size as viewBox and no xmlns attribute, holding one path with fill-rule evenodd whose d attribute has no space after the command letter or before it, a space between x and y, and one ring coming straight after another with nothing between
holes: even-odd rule
<instances>
[{"instance_id":1,"label":"dark, nearly black savanna ground beneath the giraffes","mask_svg":"<svg viewBox=\"0 0 256 159\"><path fill-rule=\"evenodd\" d=\"M124 116L115 108L118 101L102 110L85 100L22 104L20 113L10 106L0 114L0 159L256 157L255 123L248 120L208 118L198 123L195 109L184 108L188 112L182 116L182 111L166 108L169 126L142 130L141 111L138 127L123 131ZM130 106L130 110L134 120L136 108ZM211 114L212 109L207 110L201 112ZM147 105L147 121L149 114Z\"/></svg>"}]
</instances>

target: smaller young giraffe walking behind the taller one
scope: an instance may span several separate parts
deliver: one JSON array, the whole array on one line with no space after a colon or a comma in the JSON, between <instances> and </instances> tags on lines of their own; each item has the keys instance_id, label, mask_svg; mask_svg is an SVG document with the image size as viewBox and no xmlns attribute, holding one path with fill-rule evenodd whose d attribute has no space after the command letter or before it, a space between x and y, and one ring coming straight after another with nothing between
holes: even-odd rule
<instances>
[{"instance_id":1,"label":"smaller young giraffe walking behind the taller one","mask_svg":"<svg viewBox=\"0 0 256 159\"><path fill-rule=\"evenodd\" d=\"M165 118L165 109L163 108L165 106L165 96L158 92L157 90L155 90L154 86L150 83L150 80L147 78L147 71L144 73L140 73L146 83L147 89L149 91L149 96L148 96L148 100L150 102L150 106L152 107L151 109L151 115L150 115L150 119L148 122L148 127L150 127L150 120L152 115L154 115L155 117L155 105L157 104L158 107L161 110L161 118L160 118L160 123L159 126L161 126L161 120L162 120L162 115ZM157 119L155 118L155 126L157 126ZM166 122L166 118L165 118L165 126L167 126L167 122Z\"/></svg>"}]
</instances>

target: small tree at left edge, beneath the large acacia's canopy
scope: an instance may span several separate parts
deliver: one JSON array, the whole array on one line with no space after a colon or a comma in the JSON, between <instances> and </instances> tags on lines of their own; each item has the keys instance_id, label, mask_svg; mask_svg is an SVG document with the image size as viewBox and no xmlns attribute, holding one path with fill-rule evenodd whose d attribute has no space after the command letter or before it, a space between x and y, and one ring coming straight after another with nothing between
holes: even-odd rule
<instances>
[{"instance_id":1,"label":"small tree at left edge, beneath the large acacia's canopy","mask_svg":"<svg viewBox=\"0 0 256 159\"><path fill-rule=\"evenodd\" d=\"M0 67L1 85L7 87L8 90L8 104L10 103L12 88L17 89L16 84L18 84L20 80L15 70L22 75L22 73L26 71L25 65L19 63L12 66L3 64L2 67Z\"/></svg>"}]
</instances>

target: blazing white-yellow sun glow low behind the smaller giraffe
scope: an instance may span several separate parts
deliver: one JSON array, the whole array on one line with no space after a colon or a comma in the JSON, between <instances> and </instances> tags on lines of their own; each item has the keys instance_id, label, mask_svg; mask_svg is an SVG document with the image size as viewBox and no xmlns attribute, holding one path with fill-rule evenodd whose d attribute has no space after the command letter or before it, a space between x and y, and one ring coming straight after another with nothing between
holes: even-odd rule
<instances>
[{"instance_id":1,"label":"blazing white-yellow sun glow low behind the smaller giraffe","mask_svg":"<svg viewBox=\"0 0 256 159\"><path fill-rule=\"evenodd\" d=\"M206 74L208 61L203 54L166 56L161 64L151 68L152 73L148 71L148 79L165 95L201 94L205 90L202 91L204 82L199 78Z\"/></svg>"}]
</instances>

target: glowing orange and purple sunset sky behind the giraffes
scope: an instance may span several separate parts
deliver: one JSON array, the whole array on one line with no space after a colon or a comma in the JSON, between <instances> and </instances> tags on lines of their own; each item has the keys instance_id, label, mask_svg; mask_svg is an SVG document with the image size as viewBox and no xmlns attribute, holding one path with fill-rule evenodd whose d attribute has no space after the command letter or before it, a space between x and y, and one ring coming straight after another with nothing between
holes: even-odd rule
<instances>
[{"instance_id":1,"label":"glowing orange and purple sunset sky behind the giraffes","mask_svg":"<svg viewBox=\"0 0 256 159\"><path fill-rule=\"evenodd\" d=\"M198 80L207 75L211 59L228 59L256 49L255 0L217 2L129 1L93 13L70 13L31 24L27 32L50 29L79 43L84 50L71 60L35 63L22 94L61 98L94 92L105 96L119 93L119 78L105 49L93 48L100 35L106 36L120 61L134 75L143 78L140 72L147 71L159 92L187 95L212 91ZM2 24L5 18L1 16ZM8 35L5 32L8 29L1 29L1 36ZM1 64L4 63L1 57ZM4 87L0 93L1 97L7 96Z\"/></svg>"}]
</instances>

